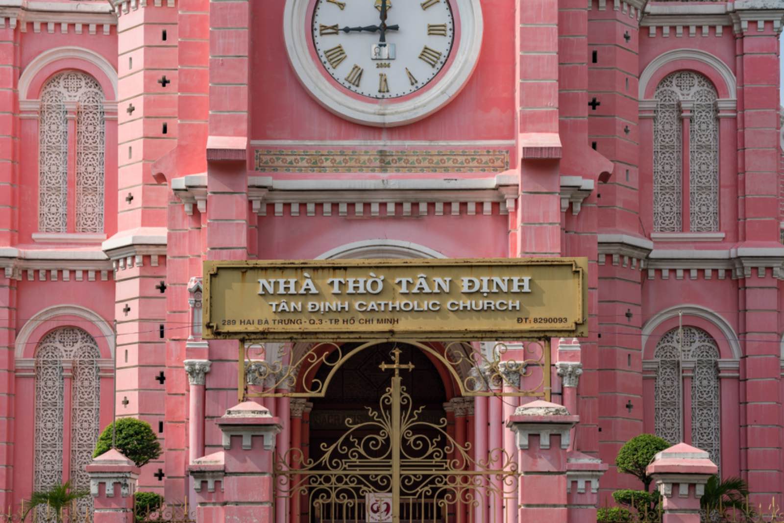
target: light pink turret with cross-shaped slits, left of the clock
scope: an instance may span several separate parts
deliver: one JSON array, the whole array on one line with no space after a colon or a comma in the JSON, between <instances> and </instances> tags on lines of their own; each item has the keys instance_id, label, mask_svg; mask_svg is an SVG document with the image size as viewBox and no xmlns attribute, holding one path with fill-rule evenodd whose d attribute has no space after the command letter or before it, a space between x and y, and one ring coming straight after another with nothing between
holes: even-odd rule
<instances>
[{"instance_id":1,"label":"light pink turret with cross-shaped slits, left of the clock","mask_svg":"<svg viewBox=\"0 0 784 523\"><path fill-rule=\"evenodd\" d=\"M116 267L115 402L118 416L137 416L150 423L165 449L165 410L177 409L165 395L167 385L175 379L165 367L166 295L160 289L161 282L166 281L166 229L162 224L167 203L167 187L160 175L171 173L154 172L152 166L176 145L178 12L174 2L115 5L118 233L103 244ZM129 194L132 199L126 199ZM171 462L164 452L160 459L143 467L140 488L163 494L169 467L164 463ZM184 463L180 463L183 469Z\"/></svg>"}]
</instances>

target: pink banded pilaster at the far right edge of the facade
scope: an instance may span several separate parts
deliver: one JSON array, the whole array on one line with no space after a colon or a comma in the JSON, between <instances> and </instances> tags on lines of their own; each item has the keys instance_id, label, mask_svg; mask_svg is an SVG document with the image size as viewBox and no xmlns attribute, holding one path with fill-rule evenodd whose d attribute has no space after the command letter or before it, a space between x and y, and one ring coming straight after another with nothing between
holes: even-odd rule
<instances>
[{"instance_id":1,"label":"pink banded pilaster at the far right edge of the facade","mask_svg":"<svg viewBox=\"0 0 784 523\"><path fill-rule=\"evenodd\" d=\"M779 181L779 31L781 10L733 15L738 79L739 256L780 247L776 194ZM771 249L772 250L772 249ZM768 251L770 252L770 251ZM780 260L780 259L779 259ZM758 263L758 260L755 260ZM744 265L739 280L741 360L741 474L753 505L782 502L782 405L779 397L779 282L770 268ZM780 262L763 263L778 265ZM745 459L743 459L745 458Z\"/></svg>"}]
</instances>

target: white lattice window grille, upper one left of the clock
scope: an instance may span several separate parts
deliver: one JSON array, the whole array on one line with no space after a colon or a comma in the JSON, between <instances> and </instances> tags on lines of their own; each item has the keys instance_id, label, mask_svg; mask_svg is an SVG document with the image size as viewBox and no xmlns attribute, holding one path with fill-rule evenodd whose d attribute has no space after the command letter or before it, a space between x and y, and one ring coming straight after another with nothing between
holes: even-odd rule
<instances>
[{"instance_id":1,"label":"white lattice window grille, upper one left of the clock","mask_svg":"<svg viewBox=\"0 0 784 523\"><path fill-rule=\"evenodd\" d=\"M56 74L42 89L38 120L41 232L103 232L103 100L96 79L79 71ZM69 129L71 119L75 125ZM68 170L71 155L74 173ZM75 214L72 223L69 203Z\"/></svg>"}]
</instances>

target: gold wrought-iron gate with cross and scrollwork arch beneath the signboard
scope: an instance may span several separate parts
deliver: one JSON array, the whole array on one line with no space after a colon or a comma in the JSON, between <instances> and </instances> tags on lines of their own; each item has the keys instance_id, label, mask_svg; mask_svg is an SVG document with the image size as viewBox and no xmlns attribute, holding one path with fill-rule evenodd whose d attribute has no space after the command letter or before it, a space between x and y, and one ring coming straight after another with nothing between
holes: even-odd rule
<instances>
[{"instance_id":1,"label":"gold wrought-iron gate with cross and scrollwork arch beneath the signboard","mask_svg":"<svg viewBox=\"0 0 784 523\"><path fill-rule=\"evenodd\" d=\"M348 349L341 343L314 343L300 352L296 346L277 346L271 360L263 344L246 348L241 343L241 400L323 398L346 361L380 343L390 341L372 340ZM316 458L302 448L276 452L276 499L290 499L292 506L298 506L303 523L508 521L509 511L517 510L514 453L495 448L488 449L486 456L476 456L475 445L448 433L445 417L422 419L423 406L416 405L416 398L402 385L401 372L415 367L401 361L403 351L398 346L427 354L446 369L460 396L470 401L481 397L549 400L549 341L518 343L513 350L523 354L522 359L510 358L506 343L494 343L489 358L477 343L452 342L442 347L414 340L391 343L394 348L387 361L379 365L389 372L389 385L378 405L365 407L364 419L345 419L343 434L332 445L322 443ZM325 377L303 380L303 376ZM466 436L474 439L473 434Z\"/></svg>"}]
</instances>

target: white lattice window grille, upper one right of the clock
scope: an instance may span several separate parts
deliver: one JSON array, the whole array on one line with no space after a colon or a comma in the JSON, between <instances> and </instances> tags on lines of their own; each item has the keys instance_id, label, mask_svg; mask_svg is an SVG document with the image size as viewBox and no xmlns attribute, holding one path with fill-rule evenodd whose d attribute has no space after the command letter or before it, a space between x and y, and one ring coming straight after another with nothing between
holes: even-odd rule
<instances>
[{"instance_id":1,"label":"white lattice window grille, upper one right of the clock","mask_svg":"<svg viewBox=\"0 0 784 523\"><path fill-rule=\"evenodd\" d=\"M705 76L678 71L656 87L653 227L658 232L719 230L717 92ZM684 136L688 125L688 140ZM684 184L684 151L688 184ZM684 201L688 216L684 220Z\"/></svg>"}]
</instances>

